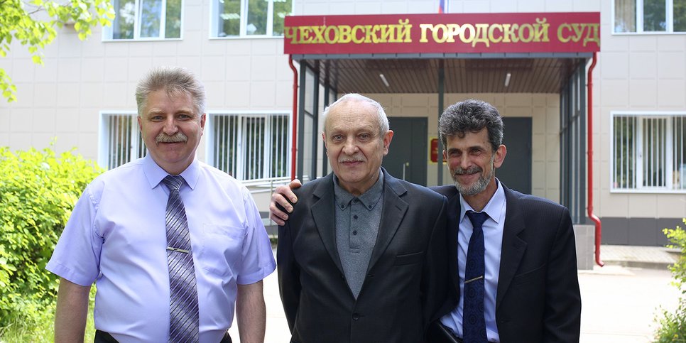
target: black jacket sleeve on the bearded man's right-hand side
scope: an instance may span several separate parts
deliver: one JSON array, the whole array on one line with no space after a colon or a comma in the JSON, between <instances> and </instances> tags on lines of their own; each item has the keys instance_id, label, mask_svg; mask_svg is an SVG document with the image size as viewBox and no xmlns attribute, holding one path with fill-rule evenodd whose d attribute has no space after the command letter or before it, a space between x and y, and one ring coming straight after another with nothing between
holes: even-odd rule
<instances>
[{"instance_id":1,"label":"black jacket sleeve on the bearded man's right-hand side","mask_svg":"<svg viewBox=\"0 0 686 343\"><path fill-rule=\"evenodd\" d=\"M570 212L562 210L548 258L543 342L579 342L581 293Z\"/></svg>"}]
</instances>

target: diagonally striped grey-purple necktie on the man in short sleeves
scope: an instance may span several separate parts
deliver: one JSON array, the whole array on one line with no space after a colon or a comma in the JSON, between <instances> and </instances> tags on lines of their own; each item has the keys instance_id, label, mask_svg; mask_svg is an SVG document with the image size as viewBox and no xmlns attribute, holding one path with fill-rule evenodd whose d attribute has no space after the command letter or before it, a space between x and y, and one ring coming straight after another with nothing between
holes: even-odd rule
<instances>
[{"instance_id":1,"label":"diagonally striped grey-purple necktie on the man in short sleeves","mask_svg":"<svg viewBox=\"0 0 686 343\"><path fill-rule=\"evenodd\" d=\"M193 254L186 211L179 189L180 175L167 175L167 261L169 263L169 342L197 342L199 318Z\"/></svg>"}]
</instances>

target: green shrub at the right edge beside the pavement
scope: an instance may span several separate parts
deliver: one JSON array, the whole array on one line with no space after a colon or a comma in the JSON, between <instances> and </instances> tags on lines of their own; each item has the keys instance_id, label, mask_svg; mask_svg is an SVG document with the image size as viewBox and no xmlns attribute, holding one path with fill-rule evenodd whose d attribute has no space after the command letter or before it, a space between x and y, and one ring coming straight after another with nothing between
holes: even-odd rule
<instances>
[{"instance_id":1,"label":"green shrub at the right edge beside the pavement","mask_svg":"<svg viewBox=\"0 0 686 343\"><path fill-rule=\"evenodd\" d=\"M686 218L683 222L686 224ZM681 252L678 261L670 266L670 271L674 278L673 284L682 295L676 312L663 310L662 317L658 318L660 327L655 333L655 342L686 342L686 232L678 225L676 229L664 229L663 232L672 243L668 247Z\"/></svg>"}]
</instances>

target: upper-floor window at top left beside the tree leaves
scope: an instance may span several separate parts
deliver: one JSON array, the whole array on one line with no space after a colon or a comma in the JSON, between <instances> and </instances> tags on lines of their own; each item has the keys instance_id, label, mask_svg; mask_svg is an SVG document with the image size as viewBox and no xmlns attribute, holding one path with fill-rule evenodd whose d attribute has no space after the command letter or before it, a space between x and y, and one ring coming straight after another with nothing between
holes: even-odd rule
<instances>
[{"instance_id":1,"label":"upper-floor window at top left beside the tree leaves","mask_svg":"<svg viewBox=\"0 0 686 343\"><path fill-rule=\"evenodd\" d=\"M182 0L112 0L114 21L104 40L181 38Z\"/></svg>"}]
</instances>

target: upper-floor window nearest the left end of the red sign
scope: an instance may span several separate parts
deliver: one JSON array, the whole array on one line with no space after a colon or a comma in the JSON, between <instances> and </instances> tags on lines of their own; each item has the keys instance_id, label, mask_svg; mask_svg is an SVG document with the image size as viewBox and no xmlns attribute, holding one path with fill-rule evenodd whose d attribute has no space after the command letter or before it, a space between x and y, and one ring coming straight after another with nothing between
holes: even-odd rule
<instances>
[{"instance_id":1,"label":"upper-floor window nearest the left end of the red sign","mask_svg":"<svg viewBox=\"0 0 686 343\"><path fill-rule=\"evenodd\" d=\"M212 0L212 37L283 36L293 0Z\"/></svg>"}]
</instances>

